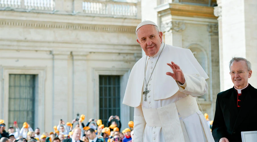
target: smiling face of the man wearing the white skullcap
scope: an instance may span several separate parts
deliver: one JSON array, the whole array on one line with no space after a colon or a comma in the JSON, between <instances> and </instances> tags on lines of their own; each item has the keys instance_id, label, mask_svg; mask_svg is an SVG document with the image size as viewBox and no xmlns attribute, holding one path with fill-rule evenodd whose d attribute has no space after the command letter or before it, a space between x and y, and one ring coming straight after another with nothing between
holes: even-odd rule
<instances>
[{"instance_id":1,"label":"smiling face of the man wearing the white skullcap","mask_svg":"<svg viewBox=\"0 0 257 142\"><path fill-rule=\"evenodd\" d=\"M147 56L154 56L162 43L162 32L157 32L154 25L144 25L137 30L136 41Z\"/></svg>"}]
</instances>

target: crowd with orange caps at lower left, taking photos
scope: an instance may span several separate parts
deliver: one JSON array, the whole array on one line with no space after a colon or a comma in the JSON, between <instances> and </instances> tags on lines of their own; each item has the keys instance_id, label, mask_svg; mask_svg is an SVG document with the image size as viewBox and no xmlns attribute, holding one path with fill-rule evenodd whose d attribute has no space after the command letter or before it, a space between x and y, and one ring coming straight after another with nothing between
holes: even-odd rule
<instances>
[{"instance_id":1,"label":"crowd with orange caps at lower left, taking photos","mask_svg":"<svg viewBox=\"0 0 257 142\"><path fill-rule=\"evenodd\" d=\"M121 131L119 116L110 116L107 126L102 120L89 119L84 123L85 115L65 123L60 119L52 132L41 133L40 128L33 130L27 122L19 129L14 122L5 131L4 120L0 120L0 142L133 142L134 122L128 122L129 128Z\"/></svg>"}]
</instances>

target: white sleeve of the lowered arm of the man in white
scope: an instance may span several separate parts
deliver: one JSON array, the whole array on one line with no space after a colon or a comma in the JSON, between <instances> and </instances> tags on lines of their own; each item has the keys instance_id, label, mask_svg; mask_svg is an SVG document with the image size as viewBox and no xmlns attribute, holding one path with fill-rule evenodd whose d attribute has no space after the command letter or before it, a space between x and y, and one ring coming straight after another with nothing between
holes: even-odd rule
<instances>
[{"instance_id":1,"label":"white sleeve of the lowered arm of the man in white","mask_svg":"<svg viewBox=\"0 0 257 142\"><path fill-rule=\"evenodd\" d=\"M134 142L143 142L145 125L142 106L139 105L134 108Z\"/></svg>"}]
</instances>

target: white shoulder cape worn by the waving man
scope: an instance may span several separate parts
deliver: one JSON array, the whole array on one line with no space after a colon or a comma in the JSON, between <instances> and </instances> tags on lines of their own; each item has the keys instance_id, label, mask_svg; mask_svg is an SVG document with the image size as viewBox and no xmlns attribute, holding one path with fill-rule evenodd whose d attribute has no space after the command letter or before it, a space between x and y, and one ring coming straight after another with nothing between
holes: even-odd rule
<instances>
[{"instance_id":1,"label":"white shoulder cape worn by the waving man","mask_svg":"<svg viewBox=\"0 0 257 142\"><path fill-rule=\"evenodd\" d=\"M158 56L156 58L158 58ZM146 56L138 60L130 72L123 99L123 104L125 105L131 107L137 107L140 105L144 83L145 59ZM158 84L157 82L151 83L153 86L151 92L153 92L154 100L169 98L179 90L176 81L172 77L166 75L166 72L172 72L170 66L166 64L171 61L178 64L184 74L202 76L203 78L208 79L207 74L197 62L190 49L164 44L164 49L152 75L153 80L159 80Z\"/></svg>"}]
</instances>

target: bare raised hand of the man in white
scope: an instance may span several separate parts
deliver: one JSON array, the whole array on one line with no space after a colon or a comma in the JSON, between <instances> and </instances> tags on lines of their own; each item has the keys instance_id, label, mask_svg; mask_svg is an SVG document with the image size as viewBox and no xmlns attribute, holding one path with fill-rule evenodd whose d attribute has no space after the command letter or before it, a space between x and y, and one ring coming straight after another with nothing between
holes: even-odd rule
<instances>
[{"instance_id":1,"label":"bare raised hand of the man in white","mask_svg":"<svg viewBox=\"0 0 257 142\"><path fill-rule=\"evenodd\" d=\"M180 69L180 67L175 64L174 62L167 63L168 66L170 66L170 68L172 69L173 73L171 72L166 72L166 75L171 76L174 80L184 84L186 82L184 74L182 72L182 70Z\"/></svg>"}]
</instances>

